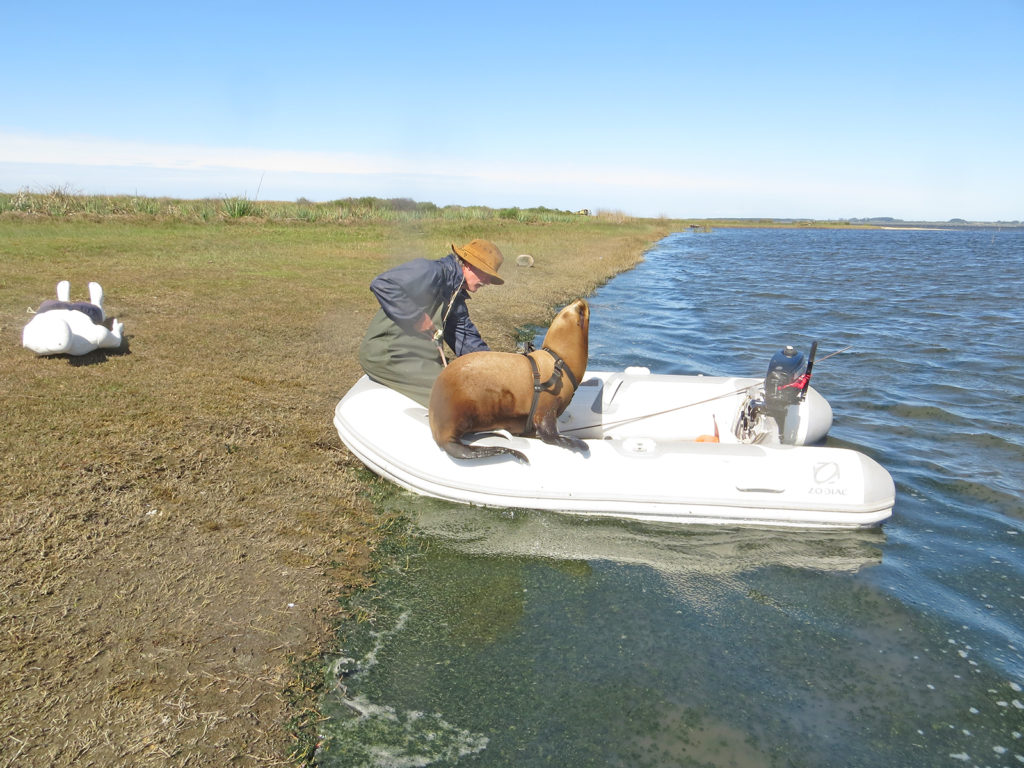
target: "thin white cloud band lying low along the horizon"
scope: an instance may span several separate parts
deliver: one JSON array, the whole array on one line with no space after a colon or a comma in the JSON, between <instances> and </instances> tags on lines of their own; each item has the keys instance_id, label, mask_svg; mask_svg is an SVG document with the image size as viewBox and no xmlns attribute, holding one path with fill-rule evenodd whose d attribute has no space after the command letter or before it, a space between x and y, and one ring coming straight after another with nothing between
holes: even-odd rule
<instances>
[{"instance_id":1,"label":"thin white cloud band lying low along the horizon","mask_svg":"<svg viewBox=\"0 0 1024 768\"><path fill-rule=\"evenodd\" d=\"M714 161L703 166L697 163L694 159L684 169L515 158L483 163L461 157L217 147L0 132L0 189L4 191L69 185L86 195L253 194L272 200L412 197L438 205L546 205L623 210L635 216L992 218L990 211L973 200L943 210L946 206L934 199L932 187L905 174L894 174L880 188L869 173L850 166L833 166L822 175L819 169L799 166L782 173L770 163L744 169L717 168Z\"/></svg>"}]
</instances>

